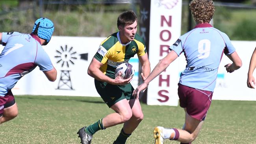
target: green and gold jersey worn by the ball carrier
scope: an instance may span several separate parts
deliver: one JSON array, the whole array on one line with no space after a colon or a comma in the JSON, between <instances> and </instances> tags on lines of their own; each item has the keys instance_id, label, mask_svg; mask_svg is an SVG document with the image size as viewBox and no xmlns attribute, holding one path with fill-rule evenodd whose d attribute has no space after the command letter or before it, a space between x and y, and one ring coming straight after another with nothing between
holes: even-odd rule
<instances>
[{"instance_id":1,"label":"green and gold jersey worn by the ball carrier","mask_svg":"<svg viewBox=\"0 0 256 144\"><path fill-rule=\"evenodd\" d=\"M135 54L143 56L147 53L145 42L135 34L134 41L122 44L119 32L113 33L105 39L95 54L94 58L103 65L100 70L108 77L115 78L115 69L122 63L128 63Z\"/></svg>"}]
</instances>

